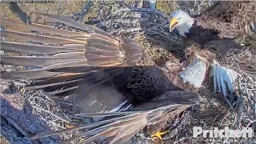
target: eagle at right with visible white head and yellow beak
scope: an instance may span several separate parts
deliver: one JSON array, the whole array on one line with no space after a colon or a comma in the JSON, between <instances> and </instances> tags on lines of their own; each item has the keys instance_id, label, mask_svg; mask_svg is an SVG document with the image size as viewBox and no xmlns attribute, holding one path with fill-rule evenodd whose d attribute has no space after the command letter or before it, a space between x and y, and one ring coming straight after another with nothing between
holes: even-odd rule
<instances>
[{"instance_id":1,"label":"eagle at right with visible white head and yellow beak","mask_svg":"<svg viewBox=\"0 0 256 144\"><path fill-rule=\"evenodd\" d=\"M210 65L214 91L234 92L238 75L254 79L254 50L234 42L234 38L255 32L256 2L218 2L198 17L191 18L182 10L170 14L170 31L177 29L184 38L188 60L202 58Z\"/></svg>"}]
</instances>

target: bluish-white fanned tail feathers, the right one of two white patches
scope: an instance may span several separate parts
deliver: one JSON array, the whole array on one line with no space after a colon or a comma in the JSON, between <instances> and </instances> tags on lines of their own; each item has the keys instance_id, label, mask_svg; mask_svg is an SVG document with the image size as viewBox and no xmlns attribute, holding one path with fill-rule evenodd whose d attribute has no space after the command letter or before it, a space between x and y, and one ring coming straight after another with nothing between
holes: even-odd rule
<instances>
[{"instance_id":1,"label":"bluish-white fanned tail feathers, the right one of two white patches","mask_svg":"<svg viewBox=\"0 0 256 144\"><path fill-rule=\"evenodd\" d=\"M225 97L227 91L234 92L233 84L238 76L237 72L220 66L218 62L210 69L210 77L214 77L214 92L221 92Z\"/></svg>"}]
</instances>

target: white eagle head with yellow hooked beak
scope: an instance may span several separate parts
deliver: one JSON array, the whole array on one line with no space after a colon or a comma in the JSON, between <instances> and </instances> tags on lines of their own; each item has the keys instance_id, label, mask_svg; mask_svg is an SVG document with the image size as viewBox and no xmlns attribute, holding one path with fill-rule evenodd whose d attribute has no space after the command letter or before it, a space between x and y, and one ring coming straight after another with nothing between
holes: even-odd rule
<instances>
[{"instance_id":1,"label":"white eagle head with yellow hooked beak","mask_svg":"<svg viewBox=\"0 0 256 144\"><path fill-rule=\"evenodd\" d=\"M194 18L182 10L175 10L170 14L170 32L176 28L178 33L185 36L190 32L190 27L194 24Z\"/></svg>"}]
</instances>

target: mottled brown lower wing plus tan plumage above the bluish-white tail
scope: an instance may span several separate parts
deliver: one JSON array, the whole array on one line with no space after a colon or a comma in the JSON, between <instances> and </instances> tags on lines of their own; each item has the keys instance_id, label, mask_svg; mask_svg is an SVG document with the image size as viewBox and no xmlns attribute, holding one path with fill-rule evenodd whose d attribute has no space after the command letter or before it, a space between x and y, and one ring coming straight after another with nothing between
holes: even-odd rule
<instances>
[{"instance_id":1,"label":"mottled brown lower wing plus tan plumage above the bluish-white tail","mask_svg":"<svg viewBox=\"0 0 256 144\"><path fill-rule=\"evenodd\" d=\"M215 60L220 65L240 74L254 76L256 73L256 55L252 53L248 46L241 46L233 39L224 38L210 41L206 42L204 46L194 46L192 44L186 50L188 61L192 62L196 57L195 55L205 59L207 64L212 64Z\"/></svg>"}]
</instances>

